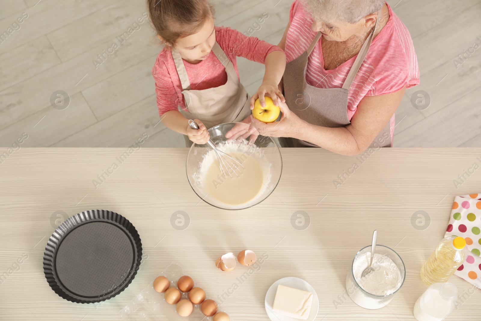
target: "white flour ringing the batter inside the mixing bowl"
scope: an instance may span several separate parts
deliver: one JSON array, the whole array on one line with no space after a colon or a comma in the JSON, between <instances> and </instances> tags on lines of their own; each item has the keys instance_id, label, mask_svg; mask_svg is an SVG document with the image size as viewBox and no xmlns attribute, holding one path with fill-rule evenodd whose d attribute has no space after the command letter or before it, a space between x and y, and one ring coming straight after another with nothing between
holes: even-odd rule
<instances>
[{"instance_id":1,"label":"white flour ringing the batter inside the mixing bowl","mask_svg":"<svg viewBox=\"0 0 481 321\"><path fill-rule=\"evenodd\" d=\"M217 143L216 146L217 146L217 149L227 154L242 153L239 159L241 162L245 161L245 159L248 157L253 157L261 166L262 172L264 174L263 188L258 193L258 195L261 195L266 190L267 188L266 186L268 186L268 183L270 182L270 179L271 179L271 173L270 173L271 164L266 159L266 156L264 155L264 152L260 147L255 145L250 145L249 142L246 140L225 141L225 142ZM206 191L206 193L208 191L206 184L212 183L212 181L208 180L206 177L207 177L207 172L213 162L217 163L217 156L215 154L215 151L209 148L209 151L205 155L203 155L202 162L199 165L198 169L192 175L195 185L199 189Z\"/></svg>"}]
</instances>

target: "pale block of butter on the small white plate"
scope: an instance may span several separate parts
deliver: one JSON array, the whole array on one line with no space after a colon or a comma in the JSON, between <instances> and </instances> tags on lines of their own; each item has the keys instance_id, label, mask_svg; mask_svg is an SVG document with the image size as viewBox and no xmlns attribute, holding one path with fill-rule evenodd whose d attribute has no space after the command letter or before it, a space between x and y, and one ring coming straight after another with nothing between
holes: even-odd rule
<instances>
[{"instance_id":1,"label":"pale block of butter on the small white plate","mask_svg":"<svg viewBox=\"0 0 481 321\"><path fill-rule=\"evenodd\" d=\"M307 320L311 305L312 293L279 284L272 310L291 318Z\"/></svg>"}]
</instances>

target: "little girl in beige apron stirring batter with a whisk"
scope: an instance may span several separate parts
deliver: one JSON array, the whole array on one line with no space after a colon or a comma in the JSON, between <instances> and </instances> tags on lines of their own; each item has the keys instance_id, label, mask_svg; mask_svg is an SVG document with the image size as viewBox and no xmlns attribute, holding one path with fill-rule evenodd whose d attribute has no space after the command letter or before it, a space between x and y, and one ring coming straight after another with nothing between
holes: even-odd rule
<instances>
[{"instance_id":1,"label":"little girl in beige apron stirring batter with a whisk","mask_svg":"<svg viewBox=\"0 0 481 321\"><path fill-rule=\"evenodd\" d=\"M285 102L278 83L286 56L279 47L214 26L208 0L147 0L147 5L165 44L152 68L159 115L166 127L187 135L188 147L206 143L207 128L215 125L242 121L248 126L251 106L257 98L265 106L266 93L276 105ZM237 56L266 64L262 84L250 100L239 80ZM190 128L189 119L199 129Z\"/></svg>"}]
</instances>

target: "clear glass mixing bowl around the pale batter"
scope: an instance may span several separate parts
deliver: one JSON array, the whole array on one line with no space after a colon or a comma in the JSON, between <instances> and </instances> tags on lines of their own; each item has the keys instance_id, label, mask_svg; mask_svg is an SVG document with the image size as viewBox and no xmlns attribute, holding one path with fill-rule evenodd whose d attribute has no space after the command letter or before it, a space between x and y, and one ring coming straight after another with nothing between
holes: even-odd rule
<instances>
[{"instance_id":1,"label":"clear glass mixing bowl around the pale batter","mask_svg":"<svg viewBox=\"0 0 481 321\"><path fill-rule=\"evenodd\" d=\"M219 142L227 141L225 135L235 125L236 123L225 123L210 128L209 134L211 140L216 145ZM282 173L282 157L280 155L278 145L270 137L259 135L253 145L259 147L262 150L265 156L265 160L270 164L270 180L264 184L264 188L252 200L241 205L229 205L222 203L205 190L205 187L203 186L205 184L202 184L201 182L199 182L199 180L195 179L196 173L198 173L200 170L204 155L212 151L212 148L209 147L207 144L192 144L189 150L189 154L187 155L186 172L187 179L189 180L192 190L194 190L194 192L205 203L218 208L229 210L248 208L264 201L274 191L280 180L280 175Z\"/></svg>"}]
</instances>

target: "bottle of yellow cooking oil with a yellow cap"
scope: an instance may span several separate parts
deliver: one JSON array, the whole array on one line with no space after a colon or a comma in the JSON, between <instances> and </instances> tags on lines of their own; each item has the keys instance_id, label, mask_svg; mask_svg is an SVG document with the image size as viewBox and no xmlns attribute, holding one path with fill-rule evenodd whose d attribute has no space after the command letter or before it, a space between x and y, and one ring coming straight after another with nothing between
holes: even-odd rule
<instances>
[{"instance_id":1,"label":"bottle of yellow cooking oil with a yellow cap","mask_svg":"<svg viewBox=\"0 0 481 321\"><path fill-rule=\"evenodd\" d=\"M447 282L468 256L466 241L460 236L448 236L441 240L421 268L421 280L431 285Z\"/></svg>"}]
</instances>

